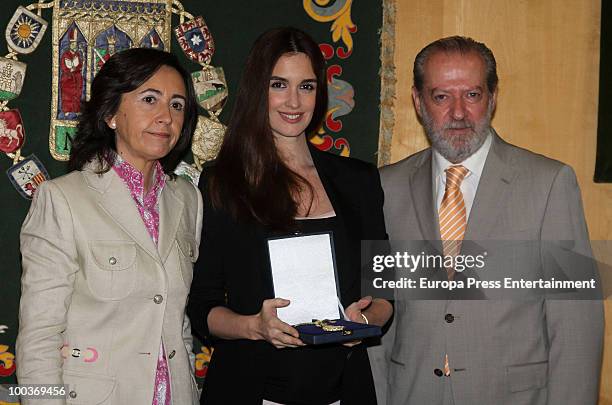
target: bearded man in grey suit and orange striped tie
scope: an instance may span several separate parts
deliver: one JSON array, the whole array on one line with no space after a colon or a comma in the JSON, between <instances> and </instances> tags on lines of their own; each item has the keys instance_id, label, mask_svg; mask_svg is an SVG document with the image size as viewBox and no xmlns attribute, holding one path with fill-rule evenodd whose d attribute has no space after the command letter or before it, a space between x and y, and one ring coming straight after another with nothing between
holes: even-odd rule
<instances>
[{"instance_id":1,"label":"bearded man in grey suit and orange striped tie","mask_svg":"<svg viewBox=\"0 0 612 405\"><path fill-rule=\"evenodd\" d=\"M438 241L445 255L468 240L565 241L566 250L590 255L573 170L491 128L497 73L484 44L465 37L429 44L414 62L412 97L432 147L381 170L390 240ZM447 271L445 279L463 276ZM385 360L374 360L379 402L597 402L600 301L406 294L396 291Z\"/></svg>"}]
</instances>

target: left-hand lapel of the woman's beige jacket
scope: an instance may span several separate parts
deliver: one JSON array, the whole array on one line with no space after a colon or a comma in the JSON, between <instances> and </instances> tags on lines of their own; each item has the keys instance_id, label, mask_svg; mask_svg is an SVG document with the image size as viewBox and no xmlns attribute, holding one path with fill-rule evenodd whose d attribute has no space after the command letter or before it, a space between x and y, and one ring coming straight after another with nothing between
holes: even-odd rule
<instances>
[{"instance_id":1,"label":"left-hand lapel of the woman's beige jacket","mask_svg":"<svg viewBox=\"0 0 612 405\"><path fill-rule=\"evenodd\" d=\"M98 205L117 223L153 259L159 261L157 248L147 232L136 203L127 186L111 169L102 176L86 171L85 176L90 187L102 195Z\"/></svg>"}]
</instances>

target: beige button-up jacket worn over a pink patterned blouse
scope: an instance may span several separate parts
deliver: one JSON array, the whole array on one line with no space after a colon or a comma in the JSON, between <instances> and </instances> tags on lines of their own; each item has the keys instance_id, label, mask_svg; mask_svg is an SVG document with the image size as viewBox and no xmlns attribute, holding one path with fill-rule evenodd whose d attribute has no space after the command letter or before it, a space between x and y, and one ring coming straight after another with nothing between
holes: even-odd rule
<instances>
[{"instance_id":1,"label":"beige button-up jacket worn over a pink patterned blouse","mask_svg":"<svg viewBox=\"0 0 612 405\"><path fill-rule=\"evenodd\" d=\"M36 192L21 229L17 377L66 384L68 396L33 404L151 404L160 339L173 404L197 403L184 309L202 197L168 179L159 213L156 247L113 170L75 171Z\"/></svg>"}]
</instances>

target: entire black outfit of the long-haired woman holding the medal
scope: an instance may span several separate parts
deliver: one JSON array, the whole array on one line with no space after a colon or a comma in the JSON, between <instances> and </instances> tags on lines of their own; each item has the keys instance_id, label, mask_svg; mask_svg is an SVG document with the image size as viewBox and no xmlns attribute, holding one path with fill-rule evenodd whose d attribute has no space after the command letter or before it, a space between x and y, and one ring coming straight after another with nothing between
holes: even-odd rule
<instances>
[{"instance_id":1,"label":"entire black outfit of the long-haired woman holding the medal","mask_svg":"<svg viewBox=\"0 0 612 405\"><path fill-rule=\"evenodd\" d=\"M360 241L386 239L380 179L370 164L314 148L311 154L336 216L299 224L305 232L333 231L340 300L347 307L361 297ZM265 299L274 298L266 241L280 236L215 210L207 183L203 174L202 242L187 306L200 337L209 337L206 319L212 308L223 305L253 315ZM376 403L365 345L276 349L265 341L214 342L203 404L260 405L263 398L283 404Z\"/></svg>"}]
</instances>

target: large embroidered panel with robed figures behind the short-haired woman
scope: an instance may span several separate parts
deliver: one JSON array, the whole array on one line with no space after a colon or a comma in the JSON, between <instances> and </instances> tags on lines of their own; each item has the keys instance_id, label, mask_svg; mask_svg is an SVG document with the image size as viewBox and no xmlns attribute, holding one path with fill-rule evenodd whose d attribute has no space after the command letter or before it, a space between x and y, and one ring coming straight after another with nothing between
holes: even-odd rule
<instances>
[{"instance_id":1,"label":"large embroidered panel with robed figures behind the short-haired woman","mask_svg":"<svg viewBox=\"0 0 612 405\"><path fill-rule=\"evenodd\" d=\"M53 88L49 149L68 160L81 103L91 82L116 52L169 50L172 0L55 0Z\"/></svg>"}]
</instances>

